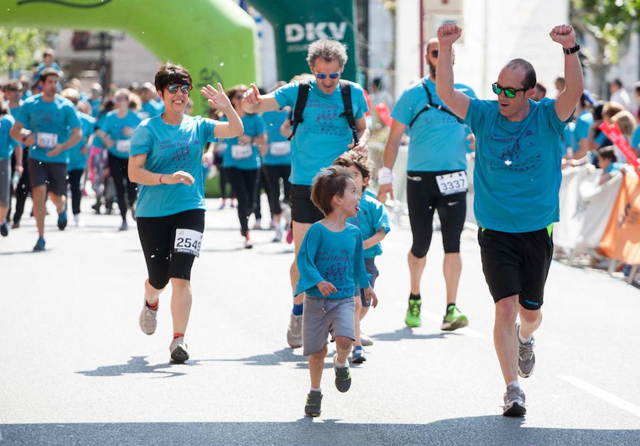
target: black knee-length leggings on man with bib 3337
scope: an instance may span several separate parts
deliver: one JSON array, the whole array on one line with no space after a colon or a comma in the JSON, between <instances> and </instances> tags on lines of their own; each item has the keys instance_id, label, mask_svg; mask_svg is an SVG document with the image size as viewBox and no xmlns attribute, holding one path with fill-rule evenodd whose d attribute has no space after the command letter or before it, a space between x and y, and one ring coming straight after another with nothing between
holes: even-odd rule
<instances>
[{"instance_id":1,"label":"black knee-length leggings on man with bib 3337","mask_svg":"<svg viewBox=\"0 0 640 446\"><path fill-rule=\"evenodd\" d=\"M406 199L413 234L411 252L421 259L427 255L433 235L433 213L438 210L444 252L460 252L460 235L467 217L467 192L443 196L436 176L452 173L408 171Z\"/></svg>"}]
</instances>

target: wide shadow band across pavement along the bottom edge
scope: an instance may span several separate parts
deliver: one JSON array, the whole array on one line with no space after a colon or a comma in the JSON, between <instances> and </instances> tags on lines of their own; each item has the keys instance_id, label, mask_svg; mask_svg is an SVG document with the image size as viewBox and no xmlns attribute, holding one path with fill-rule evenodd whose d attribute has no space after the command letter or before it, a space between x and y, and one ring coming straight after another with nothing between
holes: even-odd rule
<instances>
[{"instance_id":1,"label":"wide shadow band across pavement along the bottom edge","mask_svg":"<svg viewBox=\"0 0 640 446\"><path fill-rule=\"evenodd\" d=\"M638 430L526 427L502 415L428 424L353 424L332 419L292 422L0 424L4 444L47 445L637 445Z\"/></svg>"}]
</instances>

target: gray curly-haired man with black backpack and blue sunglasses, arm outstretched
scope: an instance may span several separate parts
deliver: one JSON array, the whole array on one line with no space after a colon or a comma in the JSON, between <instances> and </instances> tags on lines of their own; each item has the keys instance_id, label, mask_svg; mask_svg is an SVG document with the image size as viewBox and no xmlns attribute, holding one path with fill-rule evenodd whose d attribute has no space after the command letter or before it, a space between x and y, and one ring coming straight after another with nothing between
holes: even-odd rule
<instances>
[{"instance_id":1,"label":"gray curly-haired man with black backpack and blue sunglasses, arm outstretched","mask_svg":"<svg viewBox=\"0 0 640 446\"><path fill-rule=\"evenodd\" d=\"M311 202L311 183L323 167L345 151L366 151L369 140L364 114L368 111L362 88L340 79L347 63L346 47L336 40L321 39L309 45L307 62L314 77L291 82L273 93L260 95L257 87L244 93L242 106L248 113L292 107L291 117L291 219L296 259L309 227L323 219ZM291 286L300 275L296 259L291 265ZM294 296L287 342L302 345L302 294Z\"/></svg>"}]
</instances>

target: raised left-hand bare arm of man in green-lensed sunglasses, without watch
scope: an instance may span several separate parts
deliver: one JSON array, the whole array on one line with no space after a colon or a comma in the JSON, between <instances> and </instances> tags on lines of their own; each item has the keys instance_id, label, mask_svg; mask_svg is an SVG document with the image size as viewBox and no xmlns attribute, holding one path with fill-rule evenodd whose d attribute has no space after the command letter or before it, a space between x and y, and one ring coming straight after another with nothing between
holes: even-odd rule
<instances>
[{"instance_id":1,"label":"raised left-hand bare arm of man in green-lensed sunglasses, without watch","mask_svg":"<svg viewBox=\"0 0 640 446\"><path fill-rule=\"evenodd\" d=\"M436 66L436 91L442 102L460 119L467 117L469 96L454 88L452 47L462 34L455 23L445 23L438 28L438 65Z\"/></svg>"}]
</instances>

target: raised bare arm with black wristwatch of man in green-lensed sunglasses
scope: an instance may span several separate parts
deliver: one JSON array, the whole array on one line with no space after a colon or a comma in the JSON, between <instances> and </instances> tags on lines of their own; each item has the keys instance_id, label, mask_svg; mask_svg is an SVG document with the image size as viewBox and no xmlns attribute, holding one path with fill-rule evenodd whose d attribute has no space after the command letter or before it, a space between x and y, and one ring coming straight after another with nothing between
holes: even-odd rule
<instances>
[{"instance_id":1,"label":"raised bare arm with black wristwatch of man in green-lensed sunglasses","mask_svg":"<svg viewBox=\"0 0 640 446\"><path fill-rule=\"evenodd\" d=\"M575 47L575 31L570 25L554 27L549 36L554 42L560 43L563 49ZM580 67L577 52L564 55L564 79L566 79L564 90L556 99L556 104L554 104L556 114L561 121L566 121L571 117L573 111L575 111L575 106L580 100L580 95L584 91L582 67Z\"/></svg>"}]
</instances>

